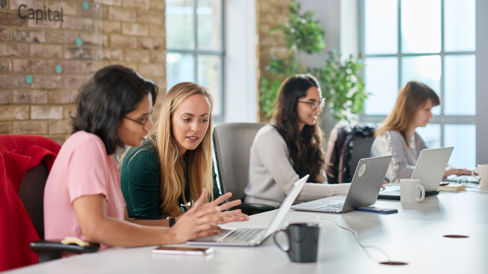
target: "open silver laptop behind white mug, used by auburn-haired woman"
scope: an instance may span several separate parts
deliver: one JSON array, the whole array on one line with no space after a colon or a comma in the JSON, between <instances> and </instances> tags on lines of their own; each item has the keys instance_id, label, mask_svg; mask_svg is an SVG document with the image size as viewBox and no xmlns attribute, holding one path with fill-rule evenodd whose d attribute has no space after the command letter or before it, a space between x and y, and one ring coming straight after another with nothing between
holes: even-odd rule
<instances>
[{"instance_id":1,"label":"open silver laptop behind white mug, used by auburn-haired woman","mask_svg":"<svg viewBox=\"0 0 488 274\"><path fill-rule=\"evenodd\" d=\"M423 149L413 170L412 179L419 179L426 190L425 196L437 195L447 161L451 157L453 147ZM378 199L400 200L400 186L387 186L380 191Z\"/></svg>"}]
</instances>

